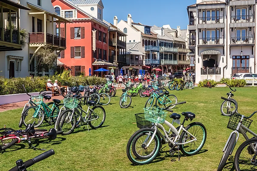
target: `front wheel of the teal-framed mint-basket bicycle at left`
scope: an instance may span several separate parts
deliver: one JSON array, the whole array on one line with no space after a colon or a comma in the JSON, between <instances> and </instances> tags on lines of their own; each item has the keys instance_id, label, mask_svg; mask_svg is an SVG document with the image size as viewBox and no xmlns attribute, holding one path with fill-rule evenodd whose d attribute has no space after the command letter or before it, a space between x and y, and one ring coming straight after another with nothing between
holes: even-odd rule
<instances>
[{"instance_id":1,"label":"front wheel of the teal-framed mint-basket bicycle at left","mask_svg":"<svg viewBox=\"0 0 257 171\"><path fill-rule=\"evenodd\" d=\"M23 112L22 121L25 126L35 121L34 128L39 127L43 123L44 112L38 106L31 106Z\"/></svg>"}]
</instances>

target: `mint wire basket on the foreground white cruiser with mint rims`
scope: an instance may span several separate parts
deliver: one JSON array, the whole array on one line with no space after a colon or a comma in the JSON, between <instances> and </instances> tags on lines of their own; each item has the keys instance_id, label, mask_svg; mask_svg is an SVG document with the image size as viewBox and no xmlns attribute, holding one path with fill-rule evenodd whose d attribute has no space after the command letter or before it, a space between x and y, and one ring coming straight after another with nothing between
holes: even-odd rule
<instances>
[{"instance_id":1,"label":"mint wire basket on the foreground white cruiser with mint rims","mask_svg":"<svg viewBox=\"0 0 257 171\"><path fill-rule=\"evenodd\" d=\"M161 108L144 108L144 118L151 123L163 123L168 112L162 111Z\"/></svg>"}]
</instances>

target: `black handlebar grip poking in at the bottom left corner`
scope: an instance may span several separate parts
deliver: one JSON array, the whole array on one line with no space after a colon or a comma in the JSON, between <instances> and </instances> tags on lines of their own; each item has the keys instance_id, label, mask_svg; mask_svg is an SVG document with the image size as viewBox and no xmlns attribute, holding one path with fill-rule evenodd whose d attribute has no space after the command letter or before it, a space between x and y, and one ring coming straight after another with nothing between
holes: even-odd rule
<instances>
[{"instance_id":1,"label":"black handlebar grip poking in at the bottom left corner","mask_svg":"<svg viewBox=\"0 0 257 171\"><path fill-rule=\"evenodd\" d=\"M35 164L37 162L40 162L40 161L42 161L42 160L44 160L44 159L46 159L46 158L48 158L52 155L54 155L54 150L50 149L49 151L44 152L44 153L34 157L33 159L27 160L26 162L24 162L24 165L25 165L26 168L28 168L28 167L32 166L33 164ZM19 171L19 170L20 169L18 168L18 166L15 166L12 169L10 169L9 171Z\"/></svg>"}]
</instances>

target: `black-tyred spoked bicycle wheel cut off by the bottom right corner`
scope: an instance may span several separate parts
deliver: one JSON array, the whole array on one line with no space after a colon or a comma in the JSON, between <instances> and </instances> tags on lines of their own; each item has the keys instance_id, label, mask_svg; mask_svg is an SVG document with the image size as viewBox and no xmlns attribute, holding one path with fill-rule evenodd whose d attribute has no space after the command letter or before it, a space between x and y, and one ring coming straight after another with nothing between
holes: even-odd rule
<instances>
[{"instance_id":1,"label":"black-tyred spoked bicycle wheel cut off by the bottom right corner","mask_svg":"<svg viewBox=\"0 0 257 171\"><path fill-rule=\"evenodd\" d=\"M256 157L254 157L256 153L256 144L257 144L257 139L252 138L243 142L239 146L234 159L234 166L236 171L257 170ZM251 145L253 147L251 147Z\"/></svg>"}]
</instances>

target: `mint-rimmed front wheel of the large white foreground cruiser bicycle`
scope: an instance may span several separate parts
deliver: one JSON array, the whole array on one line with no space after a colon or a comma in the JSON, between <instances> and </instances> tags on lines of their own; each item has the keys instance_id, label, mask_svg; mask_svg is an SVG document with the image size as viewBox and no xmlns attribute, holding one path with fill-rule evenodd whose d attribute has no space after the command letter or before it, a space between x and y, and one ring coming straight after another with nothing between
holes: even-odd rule
<instances>
[{"instance_id":1,"label":"mint-rimmed front wheel of the large white foreground cruiser bicycle","mask_svg":"<svg viewBox=\"0 0 257 171\"><path fill-rule=\"evenodd\" d=\"M147 149L144 148L150 141L154 129L142 128L135 132L127 143L127 156L130 162L136 165L151 163L161 149L161 138L157 133Z\"/></svg>"}]
</instances>

